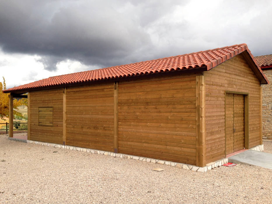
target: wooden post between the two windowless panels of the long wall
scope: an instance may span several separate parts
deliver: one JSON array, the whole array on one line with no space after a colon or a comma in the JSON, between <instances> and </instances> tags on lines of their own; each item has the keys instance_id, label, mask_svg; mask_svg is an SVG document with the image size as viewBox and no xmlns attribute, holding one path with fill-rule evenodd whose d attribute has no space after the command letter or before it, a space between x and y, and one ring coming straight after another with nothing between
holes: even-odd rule
<instances>
[{"instance_id":1,"label":"wooden post between the two windowless panels of the long wall","mask_svg":"<svg viewBox=\"0 0 272 204\"><path fill-rule=\"evenodd\" d=\"M114 152L118 153L118 82L114 82L113 96L114 96L113 146Z\"/></svg>"}]
</instances>

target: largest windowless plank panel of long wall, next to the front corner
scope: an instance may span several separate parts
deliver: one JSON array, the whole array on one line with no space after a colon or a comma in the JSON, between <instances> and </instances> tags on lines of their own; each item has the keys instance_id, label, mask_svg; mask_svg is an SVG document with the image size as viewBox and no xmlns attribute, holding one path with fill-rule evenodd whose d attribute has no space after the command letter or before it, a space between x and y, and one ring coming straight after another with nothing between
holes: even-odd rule
<instances>
[{"instance_id":1,"label":"largest windowless plank panel of long wall, next to the front corner","mask_svg":"<svg viewBox=\"0 0 272 204\"><path fill-rule=\"evenodd\" d=\"M120 82L119 152L196 164L196 76Z\"/></svg>"}]
</instances>

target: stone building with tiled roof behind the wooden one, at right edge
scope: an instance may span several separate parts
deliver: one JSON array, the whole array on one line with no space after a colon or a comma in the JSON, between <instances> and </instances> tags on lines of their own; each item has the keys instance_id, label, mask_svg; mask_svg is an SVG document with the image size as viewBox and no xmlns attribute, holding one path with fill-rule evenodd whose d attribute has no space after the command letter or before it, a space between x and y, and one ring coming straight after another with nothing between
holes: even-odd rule
<instances>
[{"instance_id":1,"label":"stone building with tiled roof behind the wooden one, at right edge","mask_svg":"<svg viewBox=\"0 0 272 204\"><path fill-rule=\"evenodd\" d=\"M272 54L254 57L269 80L262 85L263 139L272 139Z\"/></svg>"}]
</instances>

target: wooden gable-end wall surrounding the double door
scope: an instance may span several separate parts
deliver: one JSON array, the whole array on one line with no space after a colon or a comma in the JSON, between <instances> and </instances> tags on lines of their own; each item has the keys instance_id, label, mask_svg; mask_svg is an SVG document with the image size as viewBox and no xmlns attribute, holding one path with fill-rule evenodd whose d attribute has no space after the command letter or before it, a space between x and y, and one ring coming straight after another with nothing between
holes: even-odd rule
<instances>
[{"instance_id":1,"label":"wooden gable-end wall surrounding the double door","mask_svg":"<svg viewBox=\"0 0 272 204\"><path fill-rule=\"evenodd\" d=\"M206 163L225 157L225 91L248 92L249 148L260 144L260 82L239 54L204 72Z\"/></svg>"}]
</instances>

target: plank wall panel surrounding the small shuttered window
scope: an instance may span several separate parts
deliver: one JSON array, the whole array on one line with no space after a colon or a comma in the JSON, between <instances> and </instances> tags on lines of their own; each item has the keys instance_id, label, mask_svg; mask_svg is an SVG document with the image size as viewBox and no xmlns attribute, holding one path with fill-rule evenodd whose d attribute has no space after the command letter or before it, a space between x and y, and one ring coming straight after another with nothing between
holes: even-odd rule
<instances>
[{"instance_id":1,"label":"plank wall panel surrounding the small shuttered window","mask_svg":"<svg viewBox=\"0 0 272 204\"><path fill-rule=\"evenodd\" d=\"M62 144L62 89L30 92L30 140ZM53 107L53 127L38 126L38 107Z\"/></svg>"}]
</instances>

